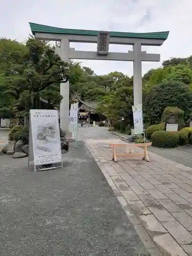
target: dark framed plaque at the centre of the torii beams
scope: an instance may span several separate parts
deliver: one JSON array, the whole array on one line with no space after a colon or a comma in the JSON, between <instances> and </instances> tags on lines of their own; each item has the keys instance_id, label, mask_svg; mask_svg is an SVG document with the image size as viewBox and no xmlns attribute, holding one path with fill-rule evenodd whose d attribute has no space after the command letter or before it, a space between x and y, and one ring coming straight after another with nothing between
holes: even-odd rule
<instances>
[{"instance_id":1,"label":"dark framed plaque at the centre of the torii beams","mask_svg":"<svg viewBox=\"0 0 192 256\"><path fill-rule=\"evenodd\" d=\"M97 39L97 54L98 55L108 55L110 44L110 32L109 31L99 31Z\"/></svg>"}]
</instances>

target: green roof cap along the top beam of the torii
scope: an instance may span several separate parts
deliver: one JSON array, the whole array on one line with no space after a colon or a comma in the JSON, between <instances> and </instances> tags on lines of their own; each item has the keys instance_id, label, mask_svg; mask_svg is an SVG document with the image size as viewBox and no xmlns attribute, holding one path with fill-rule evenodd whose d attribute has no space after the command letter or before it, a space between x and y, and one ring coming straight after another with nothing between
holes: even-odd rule
<instances>
[{"instance_id":1,"label":"green roof cap along the top beam of the torii","mask_svg":"<svg viewBox=\"0 0 192 256\"><path fill-rule=\"evenodd\" d=\"M36 23L29 23L33 35L35 33L51 33L51 34L70 34L70 35L98 35L96 30L81 30L81 29L62 29L40 25ZM127 32L110 32L110 36L114 37L132 37L143 39L162 39L166 40L169 31L163 32L150 32L150 33L127 33Z\"/></svg>"}]
</instances>

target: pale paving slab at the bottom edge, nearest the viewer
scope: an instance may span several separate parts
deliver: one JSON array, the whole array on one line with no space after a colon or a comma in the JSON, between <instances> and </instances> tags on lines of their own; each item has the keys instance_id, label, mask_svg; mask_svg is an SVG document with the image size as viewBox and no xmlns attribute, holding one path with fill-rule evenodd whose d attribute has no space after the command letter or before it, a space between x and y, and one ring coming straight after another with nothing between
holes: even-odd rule
<instances>
[{"instance_id":1,"label":"pale paving slab at the bottom edge, nearest the viewer","mask_svg":"<svg viewBox=\"0 0 192 256\"><path fill-rule=\"evenodd\" d=\"M163 250L163 255L170 256L187 256L185 251L181 246L170 236L170 234L160 234L160 236L155 236L154 241ZM150 251L151 252L151 251ZM166 253L166 254L165 254ZM152 254L153 255L153 254ZM154 254L155 256L156 254ZM158 254L157 254L158 255Z\"/></svg>"}]
</instances>

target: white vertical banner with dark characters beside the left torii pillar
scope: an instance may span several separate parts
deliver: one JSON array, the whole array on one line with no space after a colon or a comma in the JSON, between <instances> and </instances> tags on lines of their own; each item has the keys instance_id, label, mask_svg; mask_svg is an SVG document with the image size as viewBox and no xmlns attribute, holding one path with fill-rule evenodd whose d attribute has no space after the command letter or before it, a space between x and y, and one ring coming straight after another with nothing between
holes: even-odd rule
<instances>
[{"instance_id":1,"label":"white vertical banner with dark characters beside the left torii pillar","mask_svg":"<svg viewBox=\"0 0 192 256\"><path fill-rule=\"evenodd\" d=\"M78 134L78 102L71 104L69 115L69 129L73 133L73 137L76 141L77 147L77 134Z\"/></svg>"}]
</instances>

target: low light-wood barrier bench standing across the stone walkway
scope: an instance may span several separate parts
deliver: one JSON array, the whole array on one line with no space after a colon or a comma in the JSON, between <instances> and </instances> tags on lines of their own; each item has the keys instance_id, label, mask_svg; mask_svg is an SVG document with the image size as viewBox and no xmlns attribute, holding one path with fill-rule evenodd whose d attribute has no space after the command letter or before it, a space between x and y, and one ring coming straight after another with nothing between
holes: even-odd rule
<instances>
[{"instance_id":1,"label":"low light-wood barrier bench standing across the stone walkway","mask_svg":"<svg viewBox=\"0 0 192 256\"><path fill-rule=\"evenodd\" d=\"M147 162L150 160L148 159L148 153L147 153L147 146L151 146L152 142L149 143L109 143L110 147L113 147L113 159L115 162L117 162L117 156L142 156L143 160L146 159ZM143 153L132 153L131 148L133 147L144 147ZM116 153L115 147L125 147L126 149L129 148L129 153Z\"/></svg>"}]
</instances>

